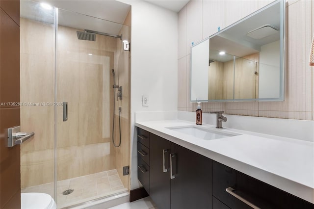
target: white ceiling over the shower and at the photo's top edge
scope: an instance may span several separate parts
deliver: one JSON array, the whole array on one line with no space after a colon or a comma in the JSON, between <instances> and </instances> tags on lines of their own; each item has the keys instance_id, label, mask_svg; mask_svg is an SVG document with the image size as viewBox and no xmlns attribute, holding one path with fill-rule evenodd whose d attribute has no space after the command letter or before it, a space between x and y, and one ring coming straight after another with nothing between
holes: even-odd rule
<instances>
[{"instance_id":1,"label":"white ceiling over the shower and at the photo's top edge","mask_svg":"<svg viewBox=\"0 0 314 209\"><path fill-rule=\"evenodd\" d=\"M189 0L145 1L179 12ZM130 4L117 0L21 0L21 17L53 24L53 10L43 9L42 2L59 8L58 25L116 35L131 9Z\"/></svg>"}]
</instances>

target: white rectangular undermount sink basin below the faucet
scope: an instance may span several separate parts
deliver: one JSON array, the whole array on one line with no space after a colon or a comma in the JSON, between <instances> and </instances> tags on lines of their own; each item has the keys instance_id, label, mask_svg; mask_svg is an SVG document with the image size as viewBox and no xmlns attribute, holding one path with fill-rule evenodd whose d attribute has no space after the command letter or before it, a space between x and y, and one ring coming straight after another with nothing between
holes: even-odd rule
<instances>
[{"instance_id":1,"label":"white rectangular undermount sink basin below the faucet","mask_svg":"<svg viewBox=\"0 0 314 209\"><path fill-rule=\"evenodd\" d=\"M205 140L219 139L219 138L226 138L230 136L240 135L238 133L225 132L225 131L214 130L214 129L209 129L209 128L201 128L201 127L196 127L196 126L170 127L167 129L189 134L194 137L205 139Z\"/></svg>"}]
</instances>

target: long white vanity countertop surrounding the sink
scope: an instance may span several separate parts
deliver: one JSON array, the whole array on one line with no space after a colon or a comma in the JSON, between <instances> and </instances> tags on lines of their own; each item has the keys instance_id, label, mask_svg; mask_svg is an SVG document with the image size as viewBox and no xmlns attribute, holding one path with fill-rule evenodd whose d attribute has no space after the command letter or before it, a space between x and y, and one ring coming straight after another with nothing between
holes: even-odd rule
<instances>
[{"instance_id":1,"label":"long white vanity countertop surrounding the sink","mask_svg":"<svg viewBox=\"0 0 314 209\"><path fill-rule=\"evenodd\" d=\"M139 128L314 203L313 142L229 128L222 131L241 135L203 140L167 129L189 125L195 123L183 120L135 123Z\"/></svg>"}]
</instances>

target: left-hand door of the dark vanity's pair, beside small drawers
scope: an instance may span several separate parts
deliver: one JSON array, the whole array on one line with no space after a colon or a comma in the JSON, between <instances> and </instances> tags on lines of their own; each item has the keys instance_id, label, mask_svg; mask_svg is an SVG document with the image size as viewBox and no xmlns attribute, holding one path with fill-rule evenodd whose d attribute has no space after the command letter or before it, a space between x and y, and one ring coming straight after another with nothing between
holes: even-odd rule
<instances>
[{"instance_id":1,"label":"left-hand door of the dark vanity's pair, beside small drawers","mask_svg":"<svg viewBox=\"0 0 314 209\"><path fill-rule=\"evenodd\" d=\"M150 133L150 196L158 209L170 209L170 142Z\"/></svg>"}]
</instances>

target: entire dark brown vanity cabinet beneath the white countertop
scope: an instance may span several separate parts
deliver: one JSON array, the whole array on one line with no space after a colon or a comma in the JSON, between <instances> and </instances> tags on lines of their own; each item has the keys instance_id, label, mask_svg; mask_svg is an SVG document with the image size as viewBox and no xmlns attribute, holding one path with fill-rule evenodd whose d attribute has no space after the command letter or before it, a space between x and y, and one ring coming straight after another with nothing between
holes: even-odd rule
<instances>
[{"instance_id":1,"label":"entire dark brown vanity cabinet beneath the white countertop","mask_svg":"<svg viewBox=\"0 0 314 209\"><path fill-rule=\"evenodd\" d=\"M314 204L138 128L138 179L159 209L314 209Z\"/></svg>"}]
</instances>

